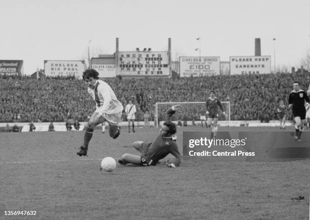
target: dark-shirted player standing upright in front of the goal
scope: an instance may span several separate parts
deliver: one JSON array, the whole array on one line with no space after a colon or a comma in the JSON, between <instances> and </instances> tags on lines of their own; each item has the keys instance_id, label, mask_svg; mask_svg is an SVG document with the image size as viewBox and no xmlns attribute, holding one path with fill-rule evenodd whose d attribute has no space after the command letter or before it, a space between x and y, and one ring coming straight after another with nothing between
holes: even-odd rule
<instances>
[{"instance_id":1,"label":"dark-shirted player standing upright in front of the goal","mask_svg":"<svg viewBox=\"0 0 310 220\"><path fill-rule=\"evenodd\" d=\"M211 127L211 129L212 129L211 138L216 137L216 133L218 130L218 126L217 126L217 120L218 120L218 116L219 116L218 115L218 107L220 107L224 116L226 116L221 102L218 100L218 98L215 97L215 92L211 91L210 97L206 101L206 108L207 108L206 114L208 117L207 125L208 125L208 127ZM213 125L212 125L212 121L213 121Z\"/></svg>"}]
</instances>

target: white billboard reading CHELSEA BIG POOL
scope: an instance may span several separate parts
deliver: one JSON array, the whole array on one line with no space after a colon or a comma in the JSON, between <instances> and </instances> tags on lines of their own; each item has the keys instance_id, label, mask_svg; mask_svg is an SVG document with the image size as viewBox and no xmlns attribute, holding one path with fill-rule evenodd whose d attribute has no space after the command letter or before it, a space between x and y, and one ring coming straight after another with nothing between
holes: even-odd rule
<instances>
[{"instance_id":1,"label":"white billboard reading CHELSEA BIG POOL","mask_svg":"<svg viewBox=\"0 0 310 220\"><path fill-rule=\"evenodd\" d=\"M75 76L82 78L86 69L83 60L45 60L44 72L46 76Z\"/></svg>"}]
</instances>

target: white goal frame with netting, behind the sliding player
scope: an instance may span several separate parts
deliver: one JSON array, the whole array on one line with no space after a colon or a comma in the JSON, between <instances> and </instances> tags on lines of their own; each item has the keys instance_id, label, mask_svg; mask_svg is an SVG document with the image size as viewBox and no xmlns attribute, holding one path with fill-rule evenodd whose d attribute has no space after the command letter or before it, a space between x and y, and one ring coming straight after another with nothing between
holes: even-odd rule
<instances>
[{"instance_id":1,"label":"white goal frame with netting, behind the sliding player","mask_svg":"<svg viewBox=\"0 0 310 220\"><path fill-rule=\"evenodd\" d=\"M223 109L226 113L226 117L224 117L224 120L222 120L223 115L220 114L219 121L226 121L226 123L229 126L230 125L230 102L221 102L221 104L222 104ZM162 118L160 116L160 114L165 114L167 109L173 105L182 105L185 107L185 113L187 114L187 115L185 115L185 117L187 118L188 121L191 121L192 117L195 117L195 116L197 117L197 115L200 111L203 111L204 115L206 115L205 114L206 113L206 102L157 102L157 103L155 103L154 126L156 126L156 127L159 126L159 122L160 122L159 119L161 119L162 121L165 120L165 116L162 116L162 117L164 117L164 118ZM188 112L186 112L186 110ZM220 110L219 110L219 112L220 112ZM181 117L182 117L182 113L178 114L176 112L174 114L174 120L178 120L178 119L182 120ZM183 115L183 117L184 117L184 115Z\"/></svg>"}]
</instances>

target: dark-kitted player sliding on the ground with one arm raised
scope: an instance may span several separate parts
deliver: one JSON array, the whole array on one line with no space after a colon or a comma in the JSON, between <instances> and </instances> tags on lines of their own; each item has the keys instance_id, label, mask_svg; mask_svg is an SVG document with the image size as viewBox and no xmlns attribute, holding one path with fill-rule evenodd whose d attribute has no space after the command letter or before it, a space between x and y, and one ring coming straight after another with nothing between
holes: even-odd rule
<instances>
[{"instance_id":1,"label":"dark-kitted player sliding on the ground with one arm raised","mask_svg":"<svg viewBox=\"0 0 310 220\"><path fill-rule=\"evenodd\" d=\"M165 158L169 153L175 156L173 163L167 164L168 167L176 167L181 163L181 155L176 143L176 124L171 121L172 115L181 109L180 105L174 105L166 112L166 120L160 129L159 135L153 142L136 141L133 147L141 152L141 156L133 154L123 154L119 163L128 163L141 166L154 166L159 160Z\"/></svg>"}]
</instances>

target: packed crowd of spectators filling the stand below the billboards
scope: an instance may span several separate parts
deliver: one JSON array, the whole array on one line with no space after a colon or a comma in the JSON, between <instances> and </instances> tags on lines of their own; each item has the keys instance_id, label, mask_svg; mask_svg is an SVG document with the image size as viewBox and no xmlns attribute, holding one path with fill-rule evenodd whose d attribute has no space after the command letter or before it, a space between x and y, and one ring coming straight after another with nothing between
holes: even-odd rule
<instances>
[{"instance_id":1,"label":"packed crowd of spectators filling the stand below the billboards","mask_svg":"<svg viewBox=\"0 0 310 220\"><path fill-rule=\"evenodd\" d=\"M87 93L87 84L81 79L0 79L0 122L87 121L95 108ZM309 85L309 75L290 73L103 80L112 87L124 107L130 98L134 99L138 121L144 120L145 111L149 112L150 120L154 119L156 102L204 102L211 90L220 101L230 102L231 120L278 119L279 102L284 100L288 104L292 82L300 81L304 90ZM165 108L160 106L159 120L164 118ZM205 111L204 105L186 105L185 109L176 119L199 120L200 111ZM125 113L123 120L126 120Z\"/></svg>"}]
</instances>

